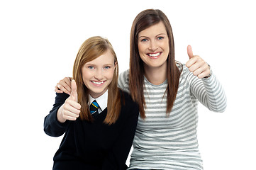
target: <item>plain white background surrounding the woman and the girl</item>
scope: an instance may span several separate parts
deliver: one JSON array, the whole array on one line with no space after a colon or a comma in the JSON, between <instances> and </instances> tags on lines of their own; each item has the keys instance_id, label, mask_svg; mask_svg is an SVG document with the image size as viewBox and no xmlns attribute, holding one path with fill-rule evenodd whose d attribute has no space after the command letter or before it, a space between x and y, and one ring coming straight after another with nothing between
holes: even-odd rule
<instances>
[{"instance_id":1,"label":"plain white background surrounding the woman and the girl","mask_svg":"<svg viewBox=\"0 0 256 170\"><path fill-rule=\"evenodd\" d=\"M1 1L0 169L52 169L62 137L43 132L55 85L72 76L82 42L111 41L119 71L128 69L130 27L144 9L159 8L174 33L176 60L187 45L223 84L225 113L199 106L204 169L256 169L255 4L253 1Z\"/></svg>"}]
</instances>

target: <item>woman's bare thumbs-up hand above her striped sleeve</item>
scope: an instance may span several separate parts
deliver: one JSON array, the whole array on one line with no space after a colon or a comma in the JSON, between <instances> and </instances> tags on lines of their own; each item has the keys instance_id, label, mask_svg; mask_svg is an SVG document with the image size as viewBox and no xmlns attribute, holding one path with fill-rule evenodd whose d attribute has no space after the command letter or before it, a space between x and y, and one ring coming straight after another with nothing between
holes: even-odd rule
<instances>
[{"instance_id":1,"label":"woman's bare thumbs-up hand above her striped sleeve","mask_svg":"<svg viewBox=\"0 0 256 170\"><path fill-rule=\"evenodd\" d=\"M193 51L190 45L187 46L187 54L189 55L189 61L186 66L189 71L192 72L199 79L208 77L210 75L210 67L208 64L198 55L193 55Z\"/></svg>"}]
</instances>

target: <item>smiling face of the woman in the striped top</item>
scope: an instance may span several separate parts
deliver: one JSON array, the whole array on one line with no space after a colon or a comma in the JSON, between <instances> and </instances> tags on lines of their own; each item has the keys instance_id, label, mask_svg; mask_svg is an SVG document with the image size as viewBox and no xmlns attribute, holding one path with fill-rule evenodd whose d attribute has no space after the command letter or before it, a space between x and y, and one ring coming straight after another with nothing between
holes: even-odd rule
<instances>
[{"instance_id":1,"label":"smiling face of the woman in the striped top","mask_svg":"<svg viewBox=\"0 0 256 170\"><path fill-rule=\"evenodd\" d=\"M169 38L164 23L157 23L138 33L138 50L148 68L167 67Z\"/></svg>"}]
</instances>

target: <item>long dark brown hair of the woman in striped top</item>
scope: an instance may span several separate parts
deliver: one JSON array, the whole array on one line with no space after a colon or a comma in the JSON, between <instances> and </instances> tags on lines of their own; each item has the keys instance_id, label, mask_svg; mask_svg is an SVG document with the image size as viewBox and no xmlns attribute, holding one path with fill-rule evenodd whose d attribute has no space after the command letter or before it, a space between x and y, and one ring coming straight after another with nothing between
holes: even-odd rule
<instances>
[{"instance_id":1,"label":"long dark brown hair of the woman in striped top","mask_svg":"<svg viewBox=\"0 0 256 170\"><path fill-rule=\"evenodd\" d=\"M129 88L130 95L136 101L140 109L140 117L146 118L144 108L146 107L143 94L144 88L144 67L143 60L140 59L138 52L138 33L157 23L164 23L169 38L169 55L167 57L167 114L172 111L179 88L180 71L174 59L174 38L172 27L165 13L158 9L147 9L135 17L133 26L130 30L130 71Z\"/></svg>"}]
</instances>

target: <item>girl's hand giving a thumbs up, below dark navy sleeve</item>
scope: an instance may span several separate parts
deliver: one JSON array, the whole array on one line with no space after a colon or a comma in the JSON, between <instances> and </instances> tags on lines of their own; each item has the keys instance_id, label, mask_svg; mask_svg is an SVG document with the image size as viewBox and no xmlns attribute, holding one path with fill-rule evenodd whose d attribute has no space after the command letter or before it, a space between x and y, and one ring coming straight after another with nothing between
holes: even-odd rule
<instances>
[{"instance_id":1,"label":"girl's hand giving a thumbs up, below dark navy sleeve","mask_svg":"<svg viewBox=\"0 0 256 170\"><path fill-rule=\"evenodd\" d=\"M60 123L65 123L66 120L77 120L80 108L81 105L77 101L77 84L76 81L72 80L71 94L57 111L57 120Z\"/></svg>"}]
</instances>

